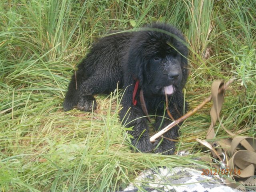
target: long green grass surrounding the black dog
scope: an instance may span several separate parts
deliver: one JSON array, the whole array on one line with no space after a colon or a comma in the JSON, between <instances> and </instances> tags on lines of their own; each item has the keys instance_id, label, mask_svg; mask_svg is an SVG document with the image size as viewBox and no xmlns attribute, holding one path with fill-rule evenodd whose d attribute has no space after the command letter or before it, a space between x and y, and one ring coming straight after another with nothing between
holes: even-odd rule
<instances>
[{"instance_id":1,"label":"long green grass surrounding the black dog","mask_svg":"<svg viewBox=\"0 0 256 192\"><path fill-rule=\"evenodd\" d=\"M64 112L70 77L92 42L111 30L170 23L185 34L194 108L212 81L226 91L223 123L255 136L256 2L254 0L3 0L0 2L0 191L115 191L154 166L190 166L205 148L210 106L186 120L177 150L189 157L133 153L118 120L122 90L98 95L93 113ZM218 138L227 134L216 126ZM204 162L197 162L202 168Z\"/></svg>"}]
</instances>

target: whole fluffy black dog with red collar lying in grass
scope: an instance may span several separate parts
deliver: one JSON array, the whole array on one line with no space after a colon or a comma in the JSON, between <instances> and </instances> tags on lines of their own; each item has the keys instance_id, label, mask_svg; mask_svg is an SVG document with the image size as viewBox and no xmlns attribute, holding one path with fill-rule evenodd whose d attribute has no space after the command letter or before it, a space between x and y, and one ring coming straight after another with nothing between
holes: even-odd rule
<instances>
[{"instance_id":1,"label":"whole fluffy black dog with red collar lying in grass","mask_svg":"<svg viewBox=\"0 0 256 192\"><path fill-rule=\"evenodd\" d=\"M186 112L182 89L188 77L188 48L184 42L180 31L159 23L100 39L72 76L64 110L77 105L80 110L92 111L96 107L93 95L110 93L118 83L125 88L120 118L126 127L133 126L129 132L132 144L141 152L173 154L178 126L152 144L139 92L143 90L148 113L156 116L156 130L172 122L165 112L165 93L174 119Z\"/></svg>"}]
</instances>

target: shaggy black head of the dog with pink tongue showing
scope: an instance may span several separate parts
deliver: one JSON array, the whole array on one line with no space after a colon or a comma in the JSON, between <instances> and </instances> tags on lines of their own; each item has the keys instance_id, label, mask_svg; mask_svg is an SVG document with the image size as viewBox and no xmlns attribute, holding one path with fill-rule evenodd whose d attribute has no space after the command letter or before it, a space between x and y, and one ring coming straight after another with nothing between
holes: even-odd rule
<instances>
[{"instance_id":1,"label":"shaggy black head of the dog with pink tongue showing","mask_svg":"<svg viewBox=\"0 0 256 192\"><path fill-rule=\"evenodd\" d=\"M182 89L188 77L188 48L180 31L166 24L152 24L136 32L128 65L140 80L144 93L173 94Z\"/></svg>"}]
</instances>

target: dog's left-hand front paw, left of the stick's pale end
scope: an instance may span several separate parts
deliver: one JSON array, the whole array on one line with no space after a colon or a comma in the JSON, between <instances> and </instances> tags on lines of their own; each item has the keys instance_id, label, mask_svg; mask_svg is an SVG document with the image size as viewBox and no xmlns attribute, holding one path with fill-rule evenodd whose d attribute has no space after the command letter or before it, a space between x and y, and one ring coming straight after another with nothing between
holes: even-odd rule
<instances>
[{"instance_id":1,"label":"dog's left-hand front paw, left of the stick's pale end","mask_svg":"<svg viewBox=\"0 0 256 192\"><path fill-rule=\"evenodd\" d=\"M134 151L139 151L142 153L152 152L153 145L150 142L149 138L141 137L132 140L132 145L134 146Z\"/></svg>"}]
</instances>

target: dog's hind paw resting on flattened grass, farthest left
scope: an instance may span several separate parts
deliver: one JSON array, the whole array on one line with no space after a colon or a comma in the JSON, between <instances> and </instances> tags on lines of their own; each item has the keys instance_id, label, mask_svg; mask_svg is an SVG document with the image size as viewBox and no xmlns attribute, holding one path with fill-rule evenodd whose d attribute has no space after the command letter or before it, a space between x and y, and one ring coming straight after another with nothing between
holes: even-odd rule
<instances>
[{"instance_id":1,"label":"dog's hind paw resting on flattened grass, farthest left","mask_svg":"<svg viewBox=\"0 0 256 192\"><path fill-rule=\"evenodd\" d=\"M92 96L84 96L80 98L77 108L81 111L91 112L97 108L96 100Z\"/></svg>"}]
</instances>

